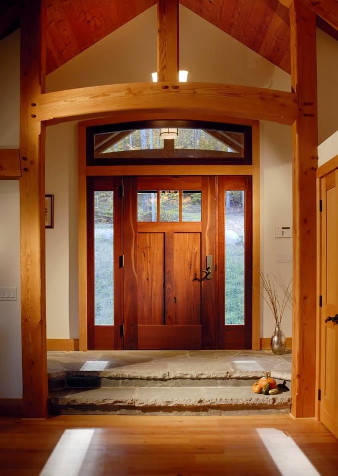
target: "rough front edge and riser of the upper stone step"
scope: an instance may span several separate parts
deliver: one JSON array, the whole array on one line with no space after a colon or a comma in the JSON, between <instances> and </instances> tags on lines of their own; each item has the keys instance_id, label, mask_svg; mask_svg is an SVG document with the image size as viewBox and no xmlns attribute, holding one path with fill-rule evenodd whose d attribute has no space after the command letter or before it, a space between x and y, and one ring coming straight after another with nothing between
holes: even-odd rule
<instances>
[{"instance_id":1,"label":"rough front edge and riser of the upper stone step","mask_svg":"<svg viewBox=\"0 0 338 476\"><path fill-rule=\"evenodd\" d=\"M49 374L49 391L62 388L101 387L249 387L265 375L261 371L230 372L123 372L109 371L65 371ZM277 383L287 381L290 388L291 375L271 372Z\"/></svg>"}]
</instances>

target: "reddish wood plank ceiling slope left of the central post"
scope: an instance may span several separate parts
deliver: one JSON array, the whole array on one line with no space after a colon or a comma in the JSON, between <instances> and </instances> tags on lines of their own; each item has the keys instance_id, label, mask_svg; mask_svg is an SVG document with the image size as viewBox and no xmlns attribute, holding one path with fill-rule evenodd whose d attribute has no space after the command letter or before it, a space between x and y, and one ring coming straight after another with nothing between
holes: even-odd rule
<instances>
[{"instance_id":1,"label":"reddish wood plank ceiling slope left of the central post","mask_svg":"<svg viewBox=\"0 0 338 476\"><path fill-rule=\"evenodd\" d=\"M156 0L43 0L47 74L129 22Z\"/></svg>"}]
</instances>

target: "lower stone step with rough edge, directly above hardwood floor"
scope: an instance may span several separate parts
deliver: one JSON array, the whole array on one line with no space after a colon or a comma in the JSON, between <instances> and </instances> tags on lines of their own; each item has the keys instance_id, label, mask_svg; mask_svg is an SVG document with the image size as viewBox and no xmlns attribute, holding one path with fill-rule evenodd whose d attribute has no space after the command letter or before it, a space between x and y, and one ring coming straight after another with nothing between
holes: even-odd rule
<instances>
[{"instance_id":1,"label":"lower stone step with rough edge, directly above hardwood floor","mask_svg":"<svg viewBox=\"0 0 338 476\"><path fill-rule=\"evenodd\" d=\"M50 392L53 414L235 415L290 413L290 391L254 394L251 387L110 387Z\"/></svg>"}]
</instances>

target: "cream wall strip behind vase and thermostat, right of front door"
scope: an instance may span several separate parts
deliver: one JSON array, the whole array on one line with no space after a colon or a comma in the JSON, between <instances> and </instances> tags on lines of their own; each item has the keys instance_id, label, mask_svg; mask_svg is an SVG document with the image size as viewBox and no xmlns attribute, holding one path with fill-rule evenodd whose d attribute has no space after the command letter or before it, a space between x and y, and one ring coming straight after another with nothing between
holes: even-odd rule
<instances>
[{"instance_id":1,"label":"cream wall strip behind vase and thermostat, right of front door","mask_svg":"<svg viewBox=\"0 0 338 476\"><path fill-rule=\"evenodd\" d=\"M277 262L277 253L292 254L292 238L275 238L275 226L292 226L292 142L288 125L261 121L261 266L265 273L280 276L289 284L292 262ZM276 285L276 289L281 288ZM271 336L274 320L265 301L262 336ZM282 320L286 336L292 335L292 313L287 308Z\"/></svg>"}]
</instances>

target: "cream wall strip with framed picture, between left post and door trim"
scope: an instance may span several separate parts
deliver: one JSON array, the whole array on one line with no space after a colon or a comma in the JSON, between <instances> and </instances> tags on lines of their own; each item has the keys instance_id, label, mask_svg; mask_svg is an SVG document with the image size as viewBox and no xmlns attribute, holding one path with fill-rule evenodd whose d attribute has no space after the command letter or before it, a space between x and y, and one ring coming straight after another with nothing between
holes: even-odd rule
<instances>
[{"instance_id":1,"label":"cream wall strip with framed picture, between left post and door trim","mask_svg":"<svg viewBox=\"0 0 338 476\"><path fill-rule=\"evenodd\" d=\"M77 123L47 127L46 193L54 228L46 229L47 338L78 336Z\"/></svg>"}]
</instances>

